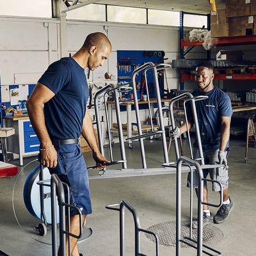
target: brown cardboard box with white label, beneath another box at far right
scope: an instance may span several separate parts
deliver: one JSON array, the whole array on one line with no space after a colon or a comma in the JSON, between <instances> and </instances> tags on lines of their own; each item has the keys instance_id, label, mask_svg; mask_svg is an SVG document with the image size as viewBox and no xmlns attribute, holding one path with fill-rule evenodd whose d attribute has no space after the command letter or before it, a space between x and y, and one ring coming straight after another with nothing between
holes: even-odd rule
<instances>
[{"instance_id":1,"label":"brown cardboard box with white label, beneath another box at far right","mask_svg":"<svg viewBox=\"0 0 256 256\"><path fill-rule=\"evenodd\" d=\"M233 17L228 19L229 36L253 35L253 16Z\"/></svg>"}]
</instances>

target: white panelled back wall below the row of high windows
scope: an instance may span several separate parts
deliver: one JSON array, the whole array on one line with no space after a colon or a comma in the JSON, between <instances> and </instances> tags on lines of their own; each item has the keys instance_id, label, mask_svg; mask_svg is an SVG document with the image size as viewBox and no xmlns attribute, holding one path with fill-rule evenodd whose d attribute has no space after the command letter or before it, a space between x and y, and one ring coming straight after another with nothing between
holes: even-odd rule
<instances>
[{"instance_id":1,"label":"white panelled back wall below the row of high windows","mask_svg":"<svg viewBox=\"0 0 256 256\"><path fill-rule=\"evenodd\" d=\"M60 22L56 19L0 17L1 84L36 83L49 64L60 58L59 31ZM111 41L113 48L104 64L104 72L115 77L118 50L164 51L164 58L168 58L166 63L172 63L179 55L178 28L83 21L67 21L68 53L74 54L83 45L86 35L95 31L105 33ZM166 76L165 86L177 88L177 70L166 70ZM92 82L92 76L88 82ZM147 115L147 111L141 111L141 120ZM126 122L125 113L122 113L122 122ZM135 115L132 122L136 122Z\"/></svg>"}]
</instances>

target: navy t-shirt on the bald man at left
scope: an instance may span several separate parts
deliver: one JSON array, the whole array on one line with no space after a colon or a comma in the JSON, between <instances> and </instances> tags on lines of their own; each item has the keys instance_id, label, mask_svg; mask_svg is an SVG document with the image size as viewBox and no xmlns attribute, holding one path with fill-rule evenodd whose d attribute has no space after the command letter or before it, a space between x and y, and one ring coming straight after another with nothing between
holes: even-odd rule
<instances>
[{"instance_id":1,"label":"navy t-shirt on the bald man at left","mask_svg":"<svg viewBox=\"0 0 256 256\"><path fill-rule=\"evenodd\" d=\"M44 104L49 136L61 140L79 138L89 97L84 68L73 58L61 58L47 68L38 82L55 94Z\"/></svg>"}]
</instances>

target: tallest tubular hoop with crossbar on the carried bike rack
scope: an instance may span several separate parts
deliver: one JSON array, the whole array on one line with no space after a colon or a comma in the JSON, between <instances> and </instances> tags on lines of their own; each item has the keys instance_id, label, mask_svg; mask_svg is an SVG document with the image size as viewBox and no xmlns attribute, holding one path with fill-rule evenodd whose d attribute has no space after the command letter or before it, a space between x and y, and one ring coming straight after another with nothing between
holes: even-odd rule
<instances>
[{"instance_id":1,"label":"tallest tubular hoop with crossbar on the carried bike rack","mask_svg":"<svg viewBox=\"0 0 256 256\"><path fill-rule=\"evenodd\" d=\"M168 158L168 150L167 150L167 144L166 144L166 136L165 136L165 130L164 130L164 124L163 124L163 112L162 112L162 105L161 105L161 95L160 95L160 90L159 90L159 83L157 79L157 70L162 70L164 68L170 68L170 65L167 64L157 64L154 65L152 62L145 63L144 65L141 65L139 68L134 70L132 72L132 88L133 88L133 94L134 94L134 106L135 106L135 111L136 111L136 121L138 125L138 136L133 136L131 138L127 138L127 141L132 141L132 140L139 140L140 141L140 151L141 151L141 161L142 161L142 166L143 168L147 168L147 163L146 163L146 158L145 158L145 148L144 148L144 143L143 143L143 138L149 137L149 136L154 136L156 134L161 134L162 136L162 142L163 142L163 152L164 152L164 163L169 162ZM154 76L154 84L155 84L155 90L156 90L156 99L157 99L157 108L159 111L159 129L158 131L154 131L154 127L152 125L152 113L150 109L150 99L149 99L149 94L148 94L148 84L147 84L147 76L146 72L147 70L153 70L153 76ZM145 86L147 90L147 98L148 98L148 107L149 107L149 115L150 115L150 120L151 120L151 132L149 133L142 133L141 129L141 120L140 120L140 109L139 109L139 104L138 104L138 96L136 93L136 75L138 72L145 72Z\"/></svg>"}]
</instances>

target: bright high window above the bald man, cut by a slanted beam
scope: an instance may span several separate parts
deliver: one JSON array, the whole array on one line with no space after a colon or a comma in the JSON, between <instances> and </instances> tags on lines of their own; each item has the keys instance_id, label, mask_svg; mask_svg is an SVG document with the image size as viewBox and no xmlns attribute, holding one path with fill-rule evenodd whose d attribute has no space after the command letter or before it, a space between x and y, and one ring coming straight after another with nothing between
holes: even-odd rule
<instances>
[{"instance_id":1,"label":"bright high window above the bald man, cut by a slanted beam","mask_svg":"<svg viewBox=\"0 0 256 256\"><path fill-rule=\"evenodd\" d=\"M72 4L72 1L70 2ZM67 12L67 19L78 20L106 20L106 5L105 4L88 4Z\"/></svg>"}]
</instances>

